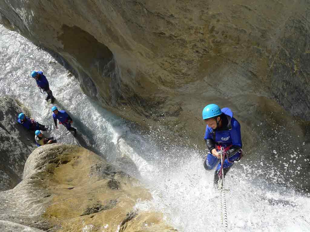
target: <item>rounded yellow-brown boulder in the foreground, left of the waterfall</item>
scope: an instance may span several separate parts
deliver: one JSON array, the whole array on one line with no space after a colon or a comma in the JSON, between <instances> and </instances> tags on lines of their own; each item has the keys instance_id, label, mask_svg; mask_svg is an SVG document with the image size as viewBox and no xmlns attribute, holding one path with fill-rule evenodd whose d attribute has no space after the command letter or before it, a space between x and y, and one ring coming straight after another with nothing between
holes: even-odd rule
<instances>
[{"instance_id":1,"label":"rounded yellow-brown boulder in the foreground, left of the waterfall","mask_svg":"<svg viewBox=\"0 0 310 232\"><path fill-rule=\"evenodd\" d=\"M0 228L7 220L44 231L175 231L161 213L134 208L150 198L137 180L95 153L44 145L28 157L23 181L0 192Z\"/></svg>"}]
</instances>

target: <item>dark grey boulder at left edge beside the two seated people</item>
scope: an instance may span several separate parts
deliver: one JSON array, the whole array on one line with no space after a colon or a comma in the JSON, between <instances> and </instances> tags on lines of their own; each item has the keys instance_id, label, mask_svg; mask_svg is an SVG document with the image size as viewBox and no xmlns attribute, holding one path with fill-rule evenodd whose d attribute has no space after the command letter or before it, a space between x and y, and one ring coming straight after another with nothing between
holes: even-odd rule
<instances>
[{"instance_id":1,"label":"dark grey boulder at left edge beside the two seated people","mask_svg":"<svg viewBox=\"0 0 310 232\"><path fill-rule=\"evenodd\" d=\"M19 101L0 97L0 191L11 189L21 181L27 157L37 147L33 131L16 122L21 112L28 110Z\"/></svg>"}]
</instances>

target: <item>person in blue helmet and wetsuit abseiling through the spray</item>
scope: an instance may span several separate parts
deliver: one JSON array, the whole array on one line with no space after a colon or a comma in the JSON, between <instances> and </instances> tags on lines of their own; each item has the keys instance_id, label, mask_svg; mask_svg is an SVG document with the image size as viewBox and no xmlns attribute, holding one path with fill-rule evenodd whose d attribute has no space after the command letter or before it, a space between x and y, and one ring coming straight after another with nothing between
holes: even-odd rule
<instances>
[{"instance_id":1,"label":"person in blue helmet and wetsuit abseiling through the spray","mask_svg":"<svg viewBox=\"0 0 310 232\"><path fill-rule=\"evenodd\" d=\"M218 105L210 104L202 110L202 119L206 122L205 142L209 150L204 167L212 170L217 165L214 173L214 184L218 184L219 170L221 168L220 151L226 152L223 174L224 176L242 156L242 141L239 122L233 117L229 108L220 109Z\"/></svg>"}]
</instances>

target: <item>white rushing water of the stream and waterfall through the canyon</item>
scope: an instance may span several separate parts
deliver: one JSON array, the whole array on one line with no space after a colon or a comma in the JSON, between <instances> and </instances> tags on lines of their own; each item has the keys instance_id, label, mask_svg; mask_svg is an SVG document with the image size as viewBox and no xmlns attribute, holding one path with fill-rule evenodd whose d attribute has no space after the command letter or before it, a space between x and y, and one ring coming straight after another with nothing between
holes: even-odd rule
<instances>
[{"instance_id":1,"label":"white rushing water of the stream and waterfall through the canyon","mask_svg":"<svg viewBox=\"0 0 310 232\"><path fill-rule=\"evenodd\" d=\"M131 132L125 120L84 95L76 79L68 77L50 54L2 26L0 34L1 96L23 102L60 143L82 144L141 179L153 199L138 202L136 208L162 212L179 231L221 231L220 197L213 189L213 171L203 168L201 152L176 146L157 148L147 136ZM77 139L61 125L55 130L53 105L44 100L29 76L33 70L47 76L57 99L54 105L72 116ZM150 136L157 136L157 131L150 131ZM228 231L309 231L309 198L272 184L272 178L258 178L261 165L241 161L227 175Z\"/></svg>"}]
</instances>

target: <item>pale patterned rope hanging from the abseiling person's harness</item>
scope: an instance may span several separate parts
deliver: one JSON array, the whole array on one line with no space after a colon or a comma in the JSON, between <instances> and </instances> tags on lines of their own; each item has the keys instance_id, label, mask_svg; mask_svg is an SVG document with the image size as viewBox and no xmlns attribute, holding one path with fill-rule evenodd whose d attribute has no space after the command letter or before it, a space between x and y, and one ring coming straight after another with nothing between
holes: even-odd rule
<instances>
[{"instance_id":1,"label":"pale patterned rope hanging from the abseiling person's harness","mask_svg":"<svg viewBox=\"0 0 310 232\"><path fill-rule=\"evenodd\" d=\"M221 221L222 224L225 228L228 228L228 223L227 223L227 210L226 210L226 197L225 197L225 185L224 185L224 173L223 173L223 164L224 164L224 160L225 160L225 155L226 151L224 151L224 148L221 148L221 151L219 152L221 154L221 168L219 170L219 189L221 191ZM228 160L228 156L227 156L227 161Z\"/></svg>"}]
</instances>

